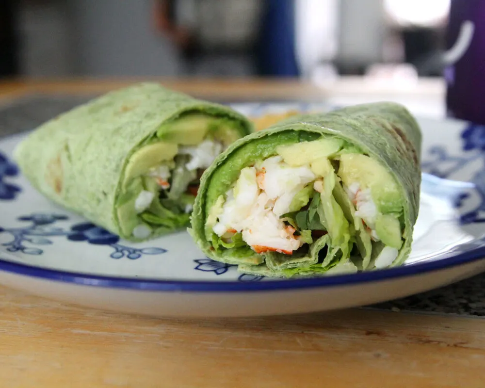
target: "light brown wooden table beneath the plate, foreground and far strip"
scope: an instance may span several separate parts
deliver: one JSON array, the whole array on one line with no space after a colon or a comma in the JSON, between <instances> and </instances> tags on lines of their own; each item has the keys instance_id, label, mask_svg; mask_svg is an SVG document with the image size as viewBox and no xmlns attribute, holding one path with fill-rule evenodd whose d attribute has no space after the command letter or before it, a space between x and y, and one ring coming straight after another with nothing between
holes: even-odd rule
<instances>
[{"instance_id":1,"label":"light brown wooden table beneath the plate, foreground and far strip","mask_svg":"<svg viewBox=\"0 0 485 388\"><path fill-rule=\"evenodd\" d=\"M341 88L296 81L162 82L213 98L325 98L345 87L345 93L363 94L349 86L352 80ZM0 84L0 98L95 93L123 83L12 81ZM442 93L439 82L420 87L430 96ZM484 364L485 320L478 318L351 309L163 320L67 306L0 287L2 388L484 387Z\"/></svg>"}]
</instances>

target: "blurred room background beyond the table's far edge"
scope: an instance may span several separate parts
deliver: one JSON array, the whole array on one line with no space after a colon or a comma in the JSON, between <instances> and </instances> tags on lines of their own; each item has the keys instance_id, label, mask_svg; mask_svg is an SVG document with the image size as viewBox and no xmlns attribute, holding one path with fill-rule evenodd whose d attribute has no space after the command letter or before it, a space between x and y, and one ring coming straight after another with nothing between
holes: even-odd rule
<instances>
[{"instance_id":1,"label":"blurred room background beyond the table's far edge","mask_svg":"<svg viewBox=\"0 0 485 388\"><path fill-rule=\"evenodd\" d=\"M449 0L0 0L0 78L440 77Z\"/></svg>"}]
</instances>

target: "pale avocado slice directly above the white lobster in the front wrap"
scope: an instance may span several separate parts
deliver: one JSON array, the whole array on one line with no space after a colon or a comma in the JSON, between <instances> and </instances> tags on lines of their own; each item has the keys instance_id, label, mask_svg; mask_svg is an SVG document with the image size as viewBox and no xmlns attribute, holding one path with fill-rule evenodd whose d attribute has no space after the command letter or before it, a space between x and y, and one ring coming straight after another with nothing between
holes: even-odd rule
<instances>
[{"instance_id":1,"label":"pale avocado slice directly above the white lobster in the front wrap","mask_svg":"<svg viewBox=\"0 0 485 388\"><path fill-rule=\"evenodd\" d=\"M291 166L303 166L317 159L335 155L344 141L337 137L326 137L313 142L278 146L276 152Z\"/></svg>"}]
</instances>

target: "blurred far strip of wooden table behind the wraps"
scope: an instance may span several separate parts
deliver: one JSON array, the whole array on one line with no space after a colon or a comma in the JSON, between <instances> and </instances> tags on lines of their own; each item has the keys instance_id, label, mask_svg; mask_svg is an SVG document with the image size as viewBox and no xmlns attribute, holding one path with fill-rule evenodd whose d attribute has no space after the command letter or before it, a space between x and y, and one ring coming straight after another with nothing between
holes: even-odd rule
<instances>
[{"instance_id":1,"label":"blurred far strip of wooden table behind the wraps","mask_svg":"<svg viewBox=\"0 0 485 388\"><path fill-rule=\"evenodd\" d=\"M444 96L441 79L422 79L416 83L395 85L392 82L365 81L360 77L343 77L319 84L294 79L70 79L0 81L0 97L12 98L31 93L92 95L124 87L138 81L155 81L196 97L220 100L319 100L326 97L382 98L399 96L425 98Z\"/></svg>"}]
</instances>

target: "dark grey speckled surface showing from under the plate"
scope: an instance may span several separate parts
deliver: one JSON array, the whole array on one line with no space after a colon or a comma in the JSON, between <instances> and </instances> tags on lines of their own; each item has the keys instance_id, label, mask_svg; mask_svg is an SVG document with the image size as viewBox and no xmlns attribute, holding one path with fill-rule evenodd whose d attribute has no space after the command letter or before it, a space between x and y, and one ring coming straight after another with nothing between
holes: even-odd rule
<instances>
[{"instance_id":1,"label":"dark grey speckled surface showing from under the plate","mask_svg":"<svg viewBox=\"0 0 485 388\"><path fill-rule=\"evenodd\" d=\"M85 100L86 97L31 96L5 103L0 106L0 137L35 128ZM485 316L485 274L371 308L482 317Z\"/></svg>"}]
</instances>

